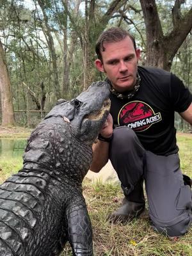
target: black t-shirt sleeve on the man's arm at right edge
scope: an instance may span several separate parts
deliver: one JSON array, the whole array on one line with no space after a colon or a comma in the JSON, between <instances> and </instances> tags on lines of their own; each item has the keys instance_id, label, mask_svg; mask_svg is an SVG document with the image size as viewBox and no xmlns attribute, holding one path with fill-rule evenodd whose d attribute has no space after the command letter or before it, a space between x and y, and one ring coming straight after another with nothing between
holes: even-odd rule
<instances>
[{"instance_id":1,"label":"black t-shirt sleeve on the man's arm at right edge","mask_svg":"<svg viewBox=\"0 0 192 256\"><path fill-rule=\"evenodd\" d=\"M192 95L189 89L184 86L184 83L174 74L171 75L170 84L170 95L174 111L182 113L189 108L192 102Z\"/></svg>"}]
</instances>

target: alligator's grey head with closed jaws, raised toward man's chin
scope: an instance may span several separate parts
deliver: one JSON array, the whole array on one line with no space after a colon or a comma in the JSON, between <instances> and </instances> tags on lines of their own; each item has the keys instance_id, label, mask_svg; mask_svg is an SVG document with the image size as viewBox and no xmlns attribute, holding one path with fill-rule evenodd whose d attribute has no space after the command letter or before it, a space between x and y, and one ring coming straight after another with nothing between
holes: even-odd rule
<instances>
[{"instance_id":1,"label":"alligator's grey head with closed jaws, raised toward man's chin","mask_svg":"<svg viewBox=\"0 0 192 256\"><path fill-rule=\"evenodd\" d=\"M92 83L76 99L60 100L45 119L63 116L76 132L77 138L92 145L109 114L109 108L109 85L99 81Z\"/></svg>"}]
</instances>

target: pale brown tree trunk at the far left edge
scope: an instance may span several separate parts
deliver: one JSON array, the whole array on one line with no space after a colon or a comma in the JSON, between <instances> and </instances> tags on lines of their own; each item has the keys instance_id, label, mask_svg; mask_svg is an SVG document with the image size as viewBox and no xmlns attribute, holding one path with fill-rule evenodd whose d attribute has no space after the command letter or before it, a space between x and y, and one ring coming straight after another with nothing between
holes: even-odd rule
<instances>
[{"instance_id":1,"label":"pale brown tree trunk at the far left edge","mask_svg":"<svg viewBox=\"0 0 192 256\"><path fill-rule=\"evenodd\" d=\"M1 110L2 110L2 125L15 125L13 112L13 100L10 84L10 77L3 51L3 45L0 40L0 92L1 92Z\"/></svg>"}]
</instances>

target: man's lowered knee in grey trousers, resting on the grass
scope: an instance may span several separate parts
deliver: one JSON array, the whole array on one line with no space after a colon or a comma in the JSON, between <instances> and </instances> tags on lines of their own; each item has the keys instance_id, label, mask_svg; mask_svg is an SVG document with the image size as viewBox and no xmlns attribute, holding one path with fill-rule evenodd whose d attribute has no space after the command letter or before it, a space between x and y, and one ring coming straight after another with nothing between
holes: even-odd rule
<instances>
[{"instance_id":1,"label":"man's lowered knee in grey trousers, resting on the grass","mask_svg":"<svg viewBox=\"0 0 192 256\"><path fill-rule=\"evenodd\" d=\"M184 212L172 221L152 220L152 226L157 232L166 236L183 236L191 225L192 214Z\"/></svg>"}]
</instances>

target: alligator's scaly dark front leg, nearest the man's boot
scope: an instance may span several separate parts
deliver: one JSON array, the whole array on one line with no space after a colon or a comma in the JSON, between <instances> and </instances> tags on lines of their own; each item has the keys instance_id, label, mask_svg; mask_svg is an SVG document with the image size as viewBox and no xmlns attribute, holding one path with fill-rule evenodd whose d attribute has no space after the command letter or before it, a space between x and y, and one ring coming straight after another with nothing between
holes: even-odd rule
<instances>
[{"instance_id":1,"label":"alligator's scaly dark front leg, nearest the man's boot","mask_svg":"<svg viewBox=\"0 0 192 256\"><path fill-rule=\"evenodd\" d=\"M77 196L67 207L68 241L74 256L92 256L92 224L83 196Z\"/></svg>"}]
</instances>

